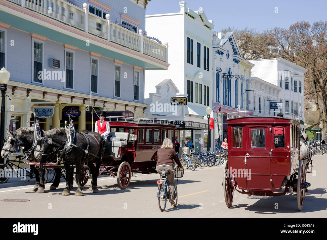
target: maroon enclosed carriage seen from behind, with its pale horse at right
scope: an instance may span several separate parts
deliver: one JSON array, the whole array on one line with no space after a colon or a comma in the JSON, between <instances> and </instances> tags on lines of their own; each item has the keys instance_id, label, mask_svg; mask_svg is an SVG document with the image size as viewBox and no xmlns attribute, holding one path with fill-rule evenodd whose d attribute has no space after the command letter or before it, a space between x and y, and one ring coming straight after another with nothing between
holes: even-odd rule
<instances>
[{"instance_id":1,"label":"maroon enclosed carriage seen from behind, with its pale horse at right","mask_svg":"<svg viewBox=\"0 0 327 240\"><path fill-rule=\"evenodd\" d=\"M306 137L300 139L300 123L284 117L240 117L227 125L230 139L222 182L227 207L235 190L259 199L291 190L301 211L312 160Z\"/></svg>"}]
</instances>

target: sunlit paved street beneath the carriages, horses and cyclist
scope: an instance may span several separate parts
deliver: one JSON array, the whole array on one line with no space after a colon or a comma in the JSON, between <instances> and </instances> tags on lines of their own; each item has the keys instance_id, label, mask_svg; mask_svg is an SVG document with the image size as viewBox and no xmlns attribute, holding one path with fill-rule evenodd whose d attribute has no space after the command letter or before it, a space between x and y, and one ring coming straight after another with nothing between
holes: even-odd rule
<instances>
[{"instance_id":1,"label":"sunlit paved street beneath the carriages, horses and cyclist","mask_svg":"<svg viewBox=\"0 0 327 240\"><path fill-rule=\"evenodd\" d=\"M327 216L327 155L313 156L313 170L307 174L311 183L306 192L302 212L298 211L296 194L273 196L269 199L248 199L234 192L231 208L227 208L221 185L223 168L198 167L185 170L178 180L178 204L167 202L160 212L156 193L159 174L136 174L127 189L117 186L116 178L99 177L98 192L88 191L91 181L83 187L83 196L76 197L76 184L69 196L62 196L65 183L56 190L38 194L32 191L33 181L20 186L0 185L0 200L28 199L25 202L0 201L2 217L326 217ZM63 180L62 180L63 181ZM19 185L19 184L16 184Z\"/></svg>"}]
</instances>

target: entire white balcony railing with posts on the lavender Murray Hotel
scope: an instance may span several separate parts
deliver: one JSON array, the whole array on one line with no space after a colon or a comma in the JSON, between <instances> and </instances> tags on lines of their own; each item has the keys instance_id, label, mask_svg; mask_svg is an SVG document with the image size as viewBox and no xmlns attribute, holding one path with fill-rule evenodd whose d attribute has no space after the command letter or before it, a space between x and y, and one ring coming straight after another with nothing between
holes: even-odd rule
<instances>
[{"instance_id":1,"label":"entire white balcony railing with posts on the lavender Murray Hotel","mask_svg":"<svg viewBox=\"0 0 327 240\"><path fill-rule=\"evenodd\" d=\"M7 0L24 8L29 8L62 23L94 34L102 39L117 43L140 53L168 62L167 46L161 45L122 26L118 26L88 12L88 9L78 8L64 0Z\"/></svg>"}]
</instances>

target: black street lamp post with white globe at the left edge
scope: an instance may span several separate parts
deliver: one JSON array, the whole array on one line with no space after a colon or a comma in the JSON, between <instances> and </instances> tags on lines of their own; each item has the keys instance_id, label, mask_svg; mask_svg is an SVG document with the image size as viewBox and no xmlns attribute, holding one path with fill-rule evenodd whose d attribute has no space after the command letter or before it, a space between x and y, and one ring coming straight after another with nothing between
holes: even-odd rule
<instances>
[{"instance_id":1,"label":"black street lamp post with white globe at the left edge","mask_svg":"<svg viewBox=\"0 0 327 240\"><path fill-rule=\"evenodd\" d=\"M0 125L0 143L1 149L5 139L5 95L7 91L7 83L9 81L10 72L5 67L0 70L0 91L1 91L1 125ZM0 156L0 163L4 163L4 159Z\"/></svg>"}]
</instances>

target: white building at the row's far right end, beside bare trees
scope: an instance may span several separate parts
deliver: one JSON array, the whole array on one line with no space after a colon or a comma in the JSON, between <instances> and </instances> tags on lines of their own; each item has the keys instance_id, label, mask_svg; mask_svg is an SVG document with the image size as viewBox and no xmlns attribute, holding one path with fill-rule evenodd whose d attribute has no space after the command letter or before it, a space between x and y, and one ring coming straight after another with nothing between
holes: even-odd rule
<instances>
[{"instance_id":1,"label":"white building at the row's far right end, beside bare trees","mask_svg":"<svg viewBox=\"0 0 327 240\"><path fill-rule=\"evenodd\" d=\"M281 88L279 94L275 95L275 100L278 100L275 102L283 103L283 109L280 111L286 112L284 116L290 117L294 114L304 120L303 78L307 70L282 57L250 60L250 62L255 64L251 70L252 76Z\"/></svg>"}]
</instances>

